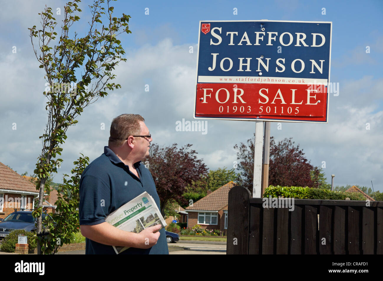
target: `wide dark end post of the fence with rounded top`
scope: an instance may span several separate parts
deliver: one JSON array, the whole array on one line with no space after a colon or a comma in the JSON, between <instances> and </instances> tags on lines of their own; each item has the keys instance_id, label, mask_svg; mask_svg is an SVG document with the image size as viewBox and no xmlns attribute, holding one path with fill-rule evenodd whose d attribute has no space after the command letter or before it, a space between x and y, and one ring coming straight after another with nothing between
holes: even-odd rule
<instances>
[{"instance_id":1,"label":"wide dark end post of the fence with rounded top","mask_svg":"<svg viewBox=\"0 0 383 281\"><path fill-rule=\"evenodd\" d=\"M234 186L229 191L226 253L249 253L249 189Z\"/></svg>"}]
</instances>

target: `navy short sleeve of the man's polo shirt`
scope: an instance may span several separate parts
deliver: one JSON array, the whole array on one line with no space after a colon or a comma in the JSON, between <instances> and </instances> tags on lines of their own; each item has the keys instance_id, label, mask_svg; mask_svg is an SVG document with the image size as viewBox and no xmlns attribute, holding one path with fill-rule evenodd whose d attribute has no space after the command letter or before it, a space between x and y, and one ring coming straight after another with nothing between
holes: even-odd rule
<instances>
[{"instance_id":1,"label":"navy short sleeve of the man's polo shirt","mask_svg":"<svg viewBox=\"0 0 383 281\"><path fill-rule=\"evenodd\" d=\"M105 222L110 209L110 186L101 179L84 175L80 180L80 225Z\"/></svg>"}]
</instances>

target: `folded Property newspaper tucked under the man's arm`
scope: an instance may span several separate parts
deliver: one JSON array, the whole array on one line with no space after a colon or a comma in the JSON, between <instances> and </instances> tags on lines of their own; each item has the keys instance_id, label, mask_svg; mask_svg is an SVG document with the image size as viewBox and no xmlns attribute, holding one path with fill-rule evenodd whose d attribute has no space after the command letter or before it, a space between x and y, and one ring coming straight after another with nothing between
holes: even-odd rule
<instances>
[{"instance_id":1,"label":"folded Property newspaper tucked under the man's arm","mask_svg":"<svg viewBox=\"0 0 383 281\"><path fill-rule=\"evenodd\" d=\"M139 233L145 228L157 224L161 225L160 229L167 225L153 197L146 191L109 214L105 221L121 230L134 233ZM128 248L113 246L116 254Z\"/></svg>"}]
</instances>

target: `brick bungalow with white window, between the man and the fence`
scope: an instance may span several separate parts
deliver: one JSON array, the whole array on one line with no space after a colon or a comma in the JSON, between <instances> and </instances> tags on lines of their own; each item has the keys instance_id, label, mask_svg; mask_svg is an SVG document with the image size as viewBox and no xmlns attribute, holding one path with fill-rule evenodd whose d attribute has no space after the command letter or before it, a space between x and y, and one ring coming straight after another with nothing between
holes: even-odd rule
<instances>
[{"instance_id":1,"label":"brick bungalow with white window, between the man and the fence","mask_svg":"<svg viewBox=\"0 0 383 281\"><path fill-rule=\"evenodd\" d=\"M203 229L219 229L226 235L228 229L229 191L235 183L230 181L188 206L188 228L198 224Z\"/></svg>"}]
</instances>

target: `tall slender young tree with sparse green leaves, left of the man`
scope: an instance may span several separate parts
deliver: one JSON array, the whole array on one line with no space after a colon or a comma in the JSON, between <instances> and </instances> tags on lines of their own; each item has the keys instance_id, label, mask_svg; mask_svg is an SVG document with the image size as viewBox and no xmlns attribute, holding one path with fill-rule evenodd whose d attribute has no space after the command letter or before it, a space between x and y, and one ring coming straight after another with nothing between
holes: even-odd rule
<instances>
[{"instance_id":1,"label":"tall slender young tree with sparse green leaves, left of the man","mask_svg":"<svg viewBox=\"0 0 383 281\"><path fill-rule=\"evenodd\" d=\"M122 57L125 53L121 42L117 39L119 34L131 33L128 29L129 15L123 14L120 18L113 16L111 0L98 0L90 5L92 18L87 33L80 37L72 31L72 25L79 21L80 17L75 13L81 12L77 3L80 0L68 2L64 7L64 20L61 26L61 35L57 44L56 19L52 9L46 7L41 15L41 29L36 26L28 28L31 43L40 68L44 69L46 85L43 92L47 99L46 110L48 121L42 138L43 148L38 157L38 163L34 173L39 181L36 188L39 189L38 210L34 212L38 216L37 230L41 236L41 213L44 199L44 191L49 192L47 179L51 173L57 173L57 166L62 159L56 159L61 155L60 147L67 138L67 129L75 125L78 115L83 109L95 102L99 97L108 93L106 90L114 90L121 87L111 83L115 79L113 70L120 61L126 61ZM101 20L107 21L103 24ZM105 21L104 20L104 21ZM100 25L97 25L97 24ZM34 39L38 38L39 48L34 47ZM39 55L38 55L39 52ZM38 254L41 253L38 240Z\"/></svg>"}]
</instances>

